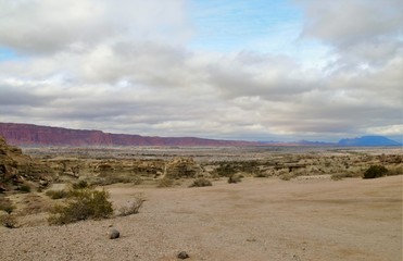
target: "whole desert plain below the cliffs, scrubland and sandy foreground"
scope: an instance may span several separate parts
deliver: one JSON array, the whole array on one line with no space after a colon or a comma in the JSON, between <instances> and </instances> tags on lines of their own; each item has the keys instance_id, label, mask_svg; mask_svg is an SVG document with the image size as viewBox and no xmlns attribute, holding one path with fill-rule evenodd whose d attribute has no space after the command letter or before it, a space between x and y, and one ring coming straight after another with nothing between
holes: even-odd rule
<instances>
[{"instance_id":1,"label":"whole desert plain below the cliffs, scrubland and sandy foreground","mask_svg":"<svg viewBox=\"0 0 403 261\"><path fill-rule=\"evenodd\" d=\"M402 260L401 148L27 148L52 181L8 192L1 260ZM371 164L393 175L364 179ZM234 173L232 173L234 172ZM229 184L228 175L241 182ZM114 177L118 177L114 179ZM198 177L207 187L189 187ZM161 181L172 183L161 186ZM49 225L46 196L76 181L139 213ZM121 237L110 239L115 227Z\"/></svg>"}]
</instances>

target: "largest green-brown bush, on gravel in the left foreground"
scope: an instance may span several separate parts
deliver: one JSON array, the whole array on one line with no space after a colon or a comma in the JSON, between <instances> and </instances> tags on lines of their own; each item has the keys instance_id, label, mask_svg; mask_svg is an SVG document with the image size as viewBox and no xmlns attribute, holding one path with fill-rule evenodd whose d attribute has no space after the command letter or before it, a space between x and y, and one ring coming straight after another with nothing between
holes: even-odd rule
<instances>
[{"instance_id":1,"label":"largest green-brown bush, on gravel in the left foreground","mask_svg":"<svg viewBox=\"0 0 403 261\"><path fill-rule=\"evenodd\" d=\"M113 213L109 192L95 189L73 189L66 204L58 204L51 210L50 224L61 225L88 219L106 219Z\"/></svg>"}]
</instances>

